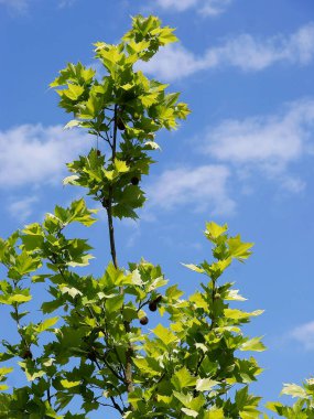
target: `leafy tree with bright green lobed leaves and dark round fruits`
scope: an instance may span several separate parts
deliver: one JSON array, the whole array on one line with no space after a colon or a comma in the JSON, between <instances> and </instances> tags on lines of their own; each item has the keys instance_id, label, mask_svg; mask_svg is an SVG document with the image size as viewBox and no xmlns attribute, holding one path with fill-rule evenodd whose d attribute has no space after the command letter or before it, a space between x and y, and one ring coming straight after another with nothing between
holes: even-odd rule
<instances>
[{"instance_id":1,"label":"leafy tree with bright green lobed leaves and dark round fruits","mask_svg":"<svg viewBox=\"0 0 314 419\"><path fill-rule=\"evenodd\" d=\"M178 93L167 93L167 85L147 78L134 64L175 41L173 29L161 26L158 18L136 17L119 44L95 44L104 77L80 63L68 64L51 84L59 106L74 114L65 128L85 129L101 142L67 164L72 174L64 183L85 187L106 212L111 261L100 278L79 275L91 247L86 239L68 238L66 228L96 222L97 210L83 198L1 239L7 279L0 281L0 302L18 330L15 342L1 343L0 361L7 363L0 368L1 418L79 419L98 409L129 419L260 416L260 397L249 385L262 369L243 355L264 345L246 336L241 325L262 311L234 308L232 301L245 298L220 280L231 262L250 256L252 244L230 236L227 225L207 223L214 260L185 265L203 278L186 299L177 286L167 286L159 266L142 259L124 269L118 262L113 219L138 216L145 201L142 176L159 148L155 135L175 129L190 112ZM34 322L24 307L41 282L51 297L41 303L43 320ZM163 320L150 331L149 315L156 314ZM17 359L28 384L7 391ZM285 387L301 397L295 408L269 407L288 418L314 417L312 383Z\"/></svg>"}]
</instances>

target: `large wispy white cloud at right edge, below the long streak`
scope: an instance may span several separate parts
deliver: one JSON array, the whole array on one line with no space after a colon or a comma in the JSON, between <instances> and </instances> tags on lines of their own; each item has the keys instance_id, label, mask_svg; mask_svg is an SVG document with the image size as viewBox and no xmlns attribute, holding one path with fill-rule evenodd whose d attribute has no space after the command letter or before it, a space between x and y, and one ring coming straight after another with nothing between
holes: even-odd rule
<instances>
[{"instance_id":1,"label":"large wispy white cloud at right edge, below the long streak","mask_svg":"<svg viewBox=\"0 0 314 419\"><path fill-rule=\"evenodd\" d=\"M304 182L289 175L289 165L313 154L314 100L300 100L271 116L223 120L208 128L201 151L220 162L260 170L297 192Z\"/></svg>"}]
</instances>

